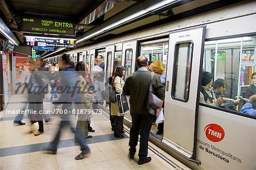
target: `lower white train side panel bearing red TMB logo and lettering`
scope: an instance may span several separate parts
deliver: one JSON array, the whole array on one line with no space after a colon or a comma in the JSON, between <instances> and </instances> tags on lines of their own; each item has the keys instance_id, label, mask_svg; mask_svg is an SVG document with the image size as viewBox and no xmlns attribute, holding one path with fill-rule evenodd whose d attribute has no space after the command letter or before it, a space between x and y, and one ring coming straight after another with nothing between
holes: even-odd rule
<instances>
[{"instance_id":1,"label":"lower white train side panel bearing red TMB logo and lettering","mask_svg":"<svg viewBox=\"0 0 256 170\"><path fill-rule=\"evenodd\" d=\"M197 156L203 169L256 169L255 120L200 107Z\"/></svg>"}]
</instances>

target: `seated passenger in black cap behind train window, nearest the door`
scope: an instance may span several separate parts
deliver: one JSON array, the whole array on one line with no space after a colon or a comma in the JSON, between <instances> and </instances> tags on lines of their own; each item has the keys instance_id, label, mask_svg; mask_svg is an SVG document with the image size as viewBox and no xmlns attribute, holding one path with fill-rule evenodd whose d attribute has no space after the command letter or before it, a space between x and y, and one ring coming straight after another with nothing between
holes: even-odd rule
<instances>
[{"instance_id":1,"label":"seated passenger in black cap behind train window, nearest the door","mask_svg":"<svg viewBox=\"0 0 256 170\"><path fill-rule=\"evenodd\" d=\"M207 71L202 73L199 102L216 107L220 107L220 105L223 103L221 97L216 99L216 96L212 90L212 74Z\"/></svg>"}]
</instances>

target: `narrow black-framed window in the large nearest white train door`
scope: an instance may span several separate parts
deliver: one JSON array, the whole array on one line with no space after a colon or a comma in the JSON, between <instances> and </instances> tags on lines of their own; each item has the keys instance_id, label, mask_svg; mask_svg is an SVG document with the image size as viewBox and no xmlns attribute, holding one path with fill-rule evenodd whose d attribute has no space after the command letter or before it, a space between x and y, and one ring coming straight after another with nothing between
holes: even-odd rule
<instances>
[{"instance_id":1,"label":"narrow black-framed window in the large nearest white train door","mask_svg":"<svg viewBox=\"0 0 256 170\"><path fill-rule=\"evenodd\" d=\"M177 43L174 58L174 79L172 80L172 98L188 101L191 76L193 42Z\"/></svg>"}]
</instances>

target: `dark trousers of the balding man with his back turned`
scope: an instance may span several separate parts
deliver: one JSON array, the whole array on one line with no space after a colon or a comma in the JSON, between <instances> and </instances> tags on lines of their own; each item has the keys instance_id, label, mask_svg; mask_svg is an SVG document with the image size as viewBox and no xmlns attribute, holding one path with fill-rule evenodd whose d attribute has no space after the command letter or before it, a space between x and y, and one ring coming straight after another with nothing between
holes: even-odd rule
<instances>
[{"instance_id":1,"label":"dark trousers of the balding man with his back turned","mask_svg":"<svg viewBox=\"0 0 256 170\"><path fill-rule=\"evenodd\" d=\"M133 126L131 126L130 130L130 152L135 152L135 147L138 143L139 132L141 131L141 138L139 142L139 159L144 160L147 158L148 138L154 116L149 113L131 113L131 117L133 119Z\"/></svg>"}]
</instances>

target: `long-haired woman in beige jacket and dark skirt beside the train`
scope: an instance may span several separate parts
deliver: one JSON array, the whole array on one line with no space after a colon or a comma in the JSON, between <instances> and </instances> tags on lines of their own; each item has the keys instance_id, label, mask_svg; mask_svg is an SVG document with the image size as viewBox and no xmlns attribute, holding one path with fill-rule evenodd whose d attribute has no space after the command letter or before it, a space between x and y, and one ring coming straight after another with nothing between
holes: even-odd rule
<instances>
[{"instance_id":1,"label":"long-haired woman in beige jacket and dark skirt beside the train","mask_svg":"<svg viewBox=\"0 0 256 170\"><path fill-rule=\"evenodd\" d=\"M115 76L113 79L113 87L115 92L121 94L123 92L123 86L125 85L125 81L123 80L123 76L125 75L125 67L117 66L115 70ZM111 113L114 116L114 137L124 138L123 133L123 116L124 114L119 113L117 102L111 104Z\"/></svg>"}]
</instances>

